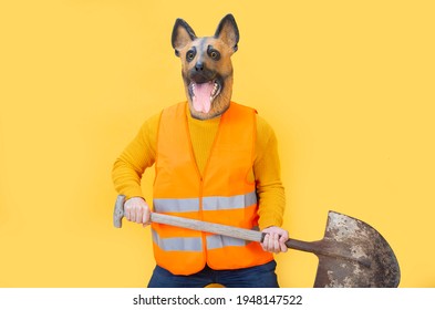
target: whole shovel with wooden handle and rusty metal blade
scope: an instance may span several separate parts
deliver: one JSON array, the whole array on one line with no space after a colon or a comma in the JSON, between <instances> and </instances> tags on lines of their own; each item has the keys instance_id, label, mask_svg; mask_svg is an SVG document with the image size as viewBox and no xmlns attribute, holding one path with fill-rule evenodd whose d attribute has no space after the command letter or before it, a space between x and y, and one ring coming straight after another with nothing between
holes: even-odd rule
<instances>
[{"instance_id":1,"label":"whole shovel with wooden handle and rusty metal blade","mask_svg":"<svg viewBox=\"0 0 435 310\"><path fill-rule=\"evenodd\" d=\"M113 224L121 228L125 196L117 196ZM200 230L261 242L266 234L220 224L152 213L153 223ZM387 241L366 223L329 211L323 239L289 239L291 249L312 252L319 258L314 288L395 288L401 279L397 259Z\"/></svg>"}]
</instances>

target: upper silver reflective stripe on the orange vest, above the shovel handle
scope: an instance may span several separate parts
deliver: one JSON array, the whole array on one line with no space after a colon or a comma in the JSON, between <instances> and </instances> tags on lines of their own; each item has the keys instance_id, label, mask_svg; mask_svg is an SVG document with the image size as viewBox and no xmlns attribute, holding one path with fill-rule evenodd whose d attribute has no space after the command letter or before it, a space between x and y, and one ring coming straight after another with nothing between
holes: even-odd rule
<instances>
[{"instance_id":1,"label":"upper silver reflective stripe on the orange vest, above the shovel handle","mask_svg":"<svg viewBox=\"0 0 435 310\"><path fill-rule=\"evenodd\" d=\"M154 209L158 213L190 213L199 211L198 198L155 198L153 199ZM257 194L255 192L236 195L230 197L204 197L203 210L228 210L242 209L257 204Z\"/></svg>"}]
</instances>

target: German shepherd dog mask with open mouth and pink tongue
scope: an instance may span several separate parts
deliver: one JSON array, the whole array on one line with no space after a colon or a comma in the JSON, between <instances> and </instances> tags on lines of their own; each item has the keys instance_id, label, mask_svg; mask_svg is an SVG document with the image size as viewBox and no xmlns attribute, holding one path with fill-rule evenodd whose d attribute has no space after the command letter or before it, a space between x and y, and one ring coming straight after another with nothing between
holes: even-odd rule
<instances>
[{"instance_id":1,"label":"German shepherd dog mask with open mouth and pink tongue","mask_svg":"<svg viewBox=\"0 0 435 310\"><path fill-rule=\"evenodd\" d=\"M239 30L231 14L219 23L214 37L197 38L183 19L174 24L172 44L182 60L182 75L193 117L208 120L229 107L232 93L231 55Z\"/></svg>"}]
</instances>

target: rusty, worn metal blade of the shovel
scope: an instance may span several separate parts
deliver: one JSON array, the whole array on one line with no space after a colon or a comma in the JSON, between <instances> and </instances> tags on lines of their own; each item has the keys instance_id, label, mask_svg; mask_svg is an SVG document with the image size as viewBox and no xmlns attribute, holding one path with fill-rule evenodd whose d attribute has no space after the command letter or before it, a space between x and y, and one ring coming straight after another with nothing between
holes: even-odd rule
<instances>
[{"instance_id":1,"label":"rusty, worn metal blade of the shovel","mask_svg":"<svg viewBox=\"0 0 435 310\"><path fill-rule=\"evenodd\" d=\"M389 242L366 223L329 211L315 288L395 288L401 272Z\"/></svg>"}]
</instances>

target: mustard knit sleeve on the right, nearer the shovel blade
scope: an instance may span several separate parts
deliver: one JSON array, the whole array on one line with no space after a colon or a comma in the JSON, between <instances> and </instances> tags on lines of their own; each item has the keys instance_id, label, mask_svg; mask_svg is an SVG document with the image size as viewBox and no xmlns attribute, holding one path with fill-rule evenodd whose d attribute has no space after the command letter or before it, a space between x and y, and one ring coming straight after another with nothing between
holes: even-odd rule
<instances>
[{"instance_id":1,"label":"mustard knit sleeve on the right, nearer the shovel blade","mask_svg":"<svg viewBox=\"0 0 435 310\"><path fill-rule=\"evenodd\" d=\"M253 174L259 197L259 226L262 230L282 225L286 194L281 182L277 137L272 127L258 115L256 142Z\"/></svg>"}]
</instances>

